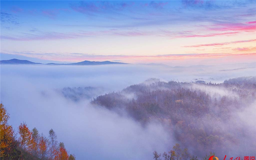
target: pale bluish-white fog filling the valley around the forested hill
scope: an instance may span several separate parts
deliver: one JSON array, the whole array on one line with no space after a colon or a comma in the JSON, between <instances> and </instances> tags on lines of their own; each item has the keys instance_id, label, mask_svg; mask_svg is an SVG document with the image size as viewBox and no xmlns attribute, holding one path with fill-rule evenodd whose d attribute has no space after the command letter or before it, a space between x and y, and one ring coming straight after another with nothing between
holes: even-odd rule
<instances>
[{"instance_id":1,"label":"pale bluish-white fog filling the valley around the forested hill","mask_svg":"<svg viewBox=\"0 0 256 160\"><path fill-rule=\"evenodd\" d=\"M153 159L154 150L163 153L176 143L172 134L158 122L142 126L132 118L92 107L92 96L119 91L148 78L221 83L229 78L256 76L255 63L185 68L148 65L0 67L0 98L10 113L9 123L13 128L17 130L25 121L29 129L36 127L46 136L52 128L58 141L63 141L78 160ZM64 87L89 86L100 89L79 101L60 92ZM211 88L204 88L207 89Z\"/></svg>"}]
</instances>

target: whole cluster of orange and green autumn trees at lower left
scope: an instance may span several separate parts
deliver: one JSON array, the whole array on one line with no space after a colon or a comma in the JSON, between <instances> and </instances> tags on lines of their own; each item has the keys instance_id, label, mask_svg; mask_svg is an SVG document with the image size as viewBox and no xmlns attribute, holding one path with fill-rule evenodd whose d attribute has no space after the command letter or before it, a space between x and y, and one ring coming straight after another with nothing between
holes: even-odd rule
<instances>
[{"instance_id":1,"label":"whole cluster of orange and green autumn trees at lower left","mask_svg":"<svg viewBox=\"0 0 256 160\"><path fill-rule=\"evenodd\" d=\"M39 134L36 128L31 131L25 122L18 127L19 138L16 140L15 132L8 124L10 118L4 105L1 103L1 160L33 159L33 160L75 160L75 156L66 150L64 143L57 146L57 135L51 129L49 137Z\"/></svg>"}]
</instances>

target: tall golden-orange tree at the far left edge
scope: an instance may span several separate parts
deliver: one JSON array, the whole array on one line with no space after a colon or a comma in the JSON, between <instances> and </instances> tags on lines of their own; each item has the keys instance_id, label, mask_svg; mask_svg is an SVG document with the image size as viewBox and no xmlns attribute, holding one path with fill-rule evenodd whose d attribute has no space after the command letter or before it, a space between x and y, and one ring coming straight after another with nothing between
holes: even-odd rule
<instances>
[{"instance_id":1,"label":"tall golden-orange tree at the far left edge","mask_svg":"<svg viewBox=\"0 0 256 160\"><path fill-rule=\"evenodd\" d=\"M10 116L2 103L0 104L0 113L0 159L12 159L15 148L14 131L8 124Z\"/></svg>"}]
</instances>

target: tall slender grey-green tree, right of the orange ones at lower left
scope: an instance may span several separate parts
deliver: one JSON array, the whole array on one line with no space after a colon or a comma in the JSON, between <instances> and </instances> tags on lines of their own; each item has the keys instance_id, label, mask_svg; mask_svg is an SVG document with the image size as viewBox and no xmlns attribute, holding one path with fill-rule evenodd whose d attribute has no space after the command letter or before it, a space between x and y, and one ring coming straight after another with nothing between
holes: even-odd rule
<instances>
[{"instance_id":1,"label":"tall slender grey-green tree, right of the orange ones at lower left","mask_svg":"<svg viewBox=\"0 0 256 160\"><path fill-rule=\"evenodd\" d=\"M57 145L58 145L58 141L57 141L57 135L56 133L53 131L53 129L51 129L49 131L49 159L53 160L54 159L54 155L55 155L55 151L57 150Z\"/></svg>"}]
</instances>

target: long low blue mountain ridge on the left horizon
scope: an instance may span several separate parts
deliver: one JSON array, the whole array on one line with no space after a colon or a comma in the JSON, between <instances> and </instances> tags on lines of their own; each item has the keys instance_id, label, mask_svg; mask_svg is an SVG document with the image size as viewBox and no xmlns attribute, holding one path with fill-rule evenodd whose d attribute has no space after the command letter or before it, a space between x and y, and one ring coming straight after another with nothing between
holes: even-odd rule
<instances>
[{"instance_id":1,"label":"long low blue mountain ridge on the left horizon","mask_svg":"<svg viewBox=\"0 0 256 160\"><path fill-rule=\"evenodd\" d=\"M43 63L35 63L28 60L18 60L18 59L11 59L11 60L0 60L0 64L43 64ZM121 62L111 62L111 61L89 61L85 60L82 62L77 63L47 63L46 65L104 65L104 64L128 64L128 63L121 63Z\"/></svg>"}]
</instances>

